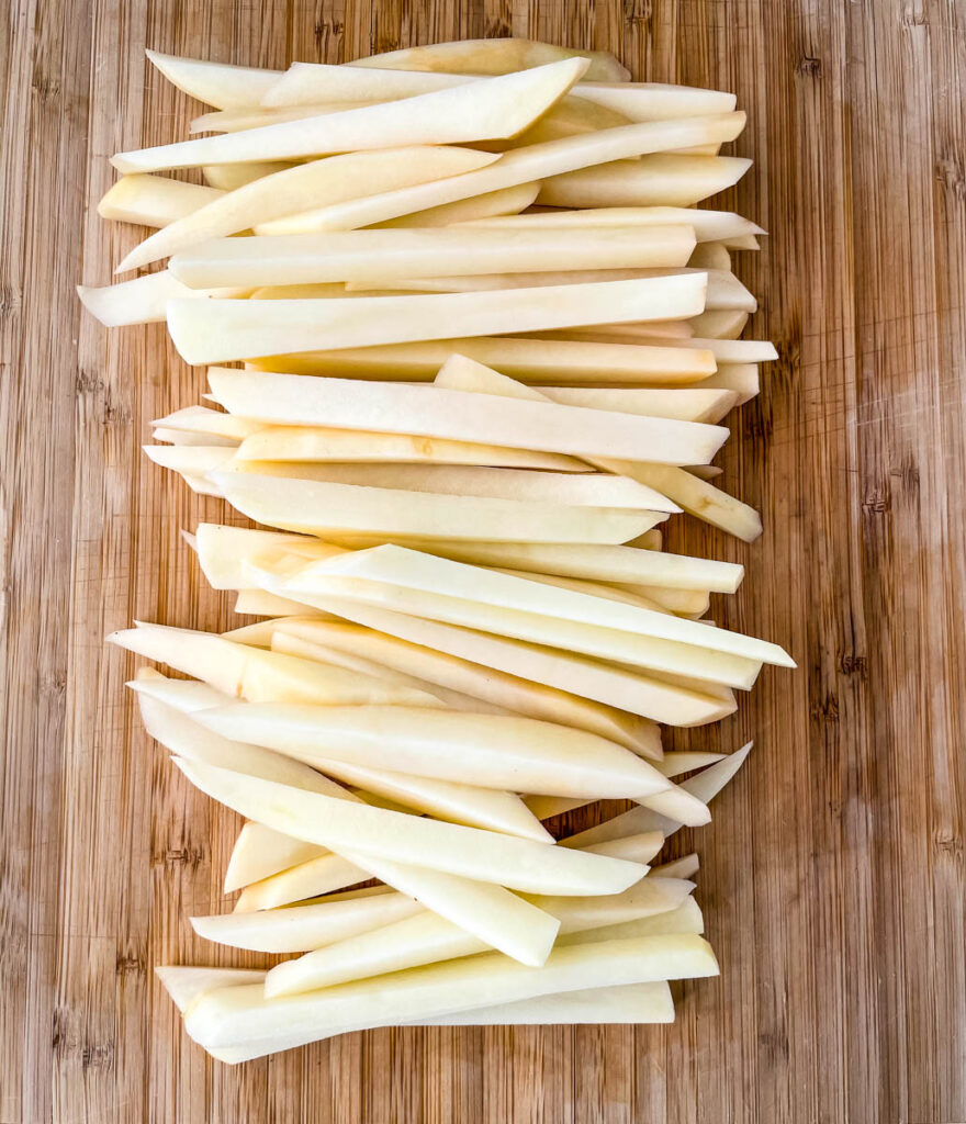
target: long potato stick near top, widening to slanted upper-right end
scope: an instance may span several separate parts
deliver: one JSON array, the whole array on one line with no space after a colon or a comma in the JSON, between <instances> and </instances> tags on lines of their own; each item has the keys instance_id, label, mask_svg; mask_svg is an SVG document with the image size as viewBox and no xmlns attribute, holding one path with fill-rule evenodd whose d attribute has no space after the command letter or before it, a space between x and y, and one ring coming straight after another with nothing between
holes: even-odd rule
<instances>
[{"instance_id":1,"label":"long potato stick near top, widening to slanted upper-right end","mask_svg":"<svg viewBox=\"0 0 966 1124\"><path fill-rule=\"evenodd\" d=\"M121 172L152 172L508 137L523 132L548 110L585 70L585 62L566 60L490 82L470 82L421 94L405 102L385 102L243 133L118 153L111 163Z\"/></svg>"}]
</instances>

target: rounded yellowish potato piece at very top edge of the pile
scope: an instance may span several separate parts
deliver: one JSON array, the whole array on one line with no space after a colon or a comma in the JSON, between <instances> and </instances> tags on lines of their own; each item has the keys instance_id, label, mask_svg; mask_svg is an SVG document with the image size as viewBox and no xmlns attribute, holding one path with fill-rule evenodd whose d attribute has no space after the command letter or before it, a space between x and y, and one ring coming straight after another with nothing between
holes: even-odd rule
<instances>
[{"instance_id":1,"label":"rounded yellowish potato piece at very top edge of the pile","mask_svg":"<svg viewBox=\"0 0 966 1124\"><path fill-rule=\"evenodd\" d=\"M608 51L577 51L538 39L457 39L421 47L386 51L356 58L349 66L379 70L431 71L457 74L509 74L513 71L545 66L566 58L587 61L585 78L596 82L626 82L630 71Z\"/></svg>"}]
</instances>

